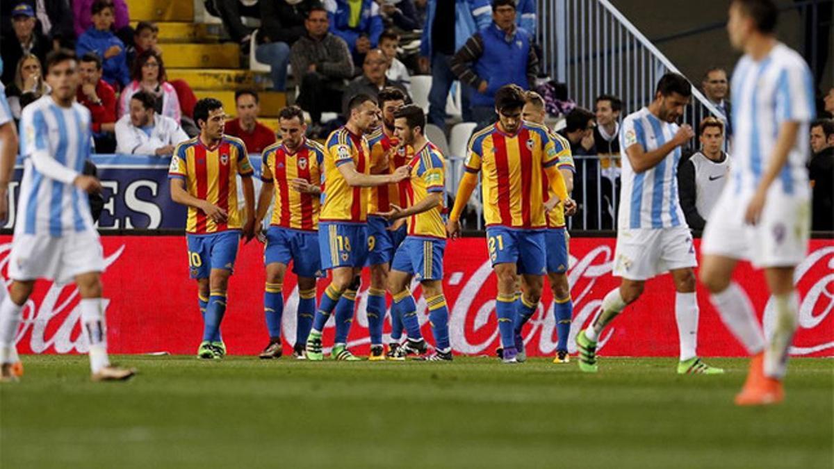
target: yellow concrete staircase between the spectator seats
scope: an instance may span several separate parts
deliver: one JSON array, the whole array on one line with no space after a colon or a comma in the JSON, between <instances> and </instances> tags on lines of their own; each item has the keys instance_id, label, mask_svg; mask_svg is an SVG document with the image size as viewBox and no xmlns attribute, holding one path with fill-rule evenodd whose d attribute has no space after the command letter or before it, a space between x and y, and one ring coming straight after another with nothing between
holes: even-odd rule
<instances>
[{"instance_id":1,"label":"yellow concrete staircase between the spectator seats","mask_svg":"<svg viewBox=\"0 0 834 469\"><path fill-rule=\"evenodd\" d=\"M260 97L265 125L277 129L277 115L286 105L286 94L266 91L266 73L240 68L240 48L220 43L219 24L195 23L193 0L127 0L133 25L153 21L159 27L159 48L163 51L168 79L181 78L197 98L217 98L227 113L234 115L234 92L253 88Z\"/></svg>"}]
</instances>

